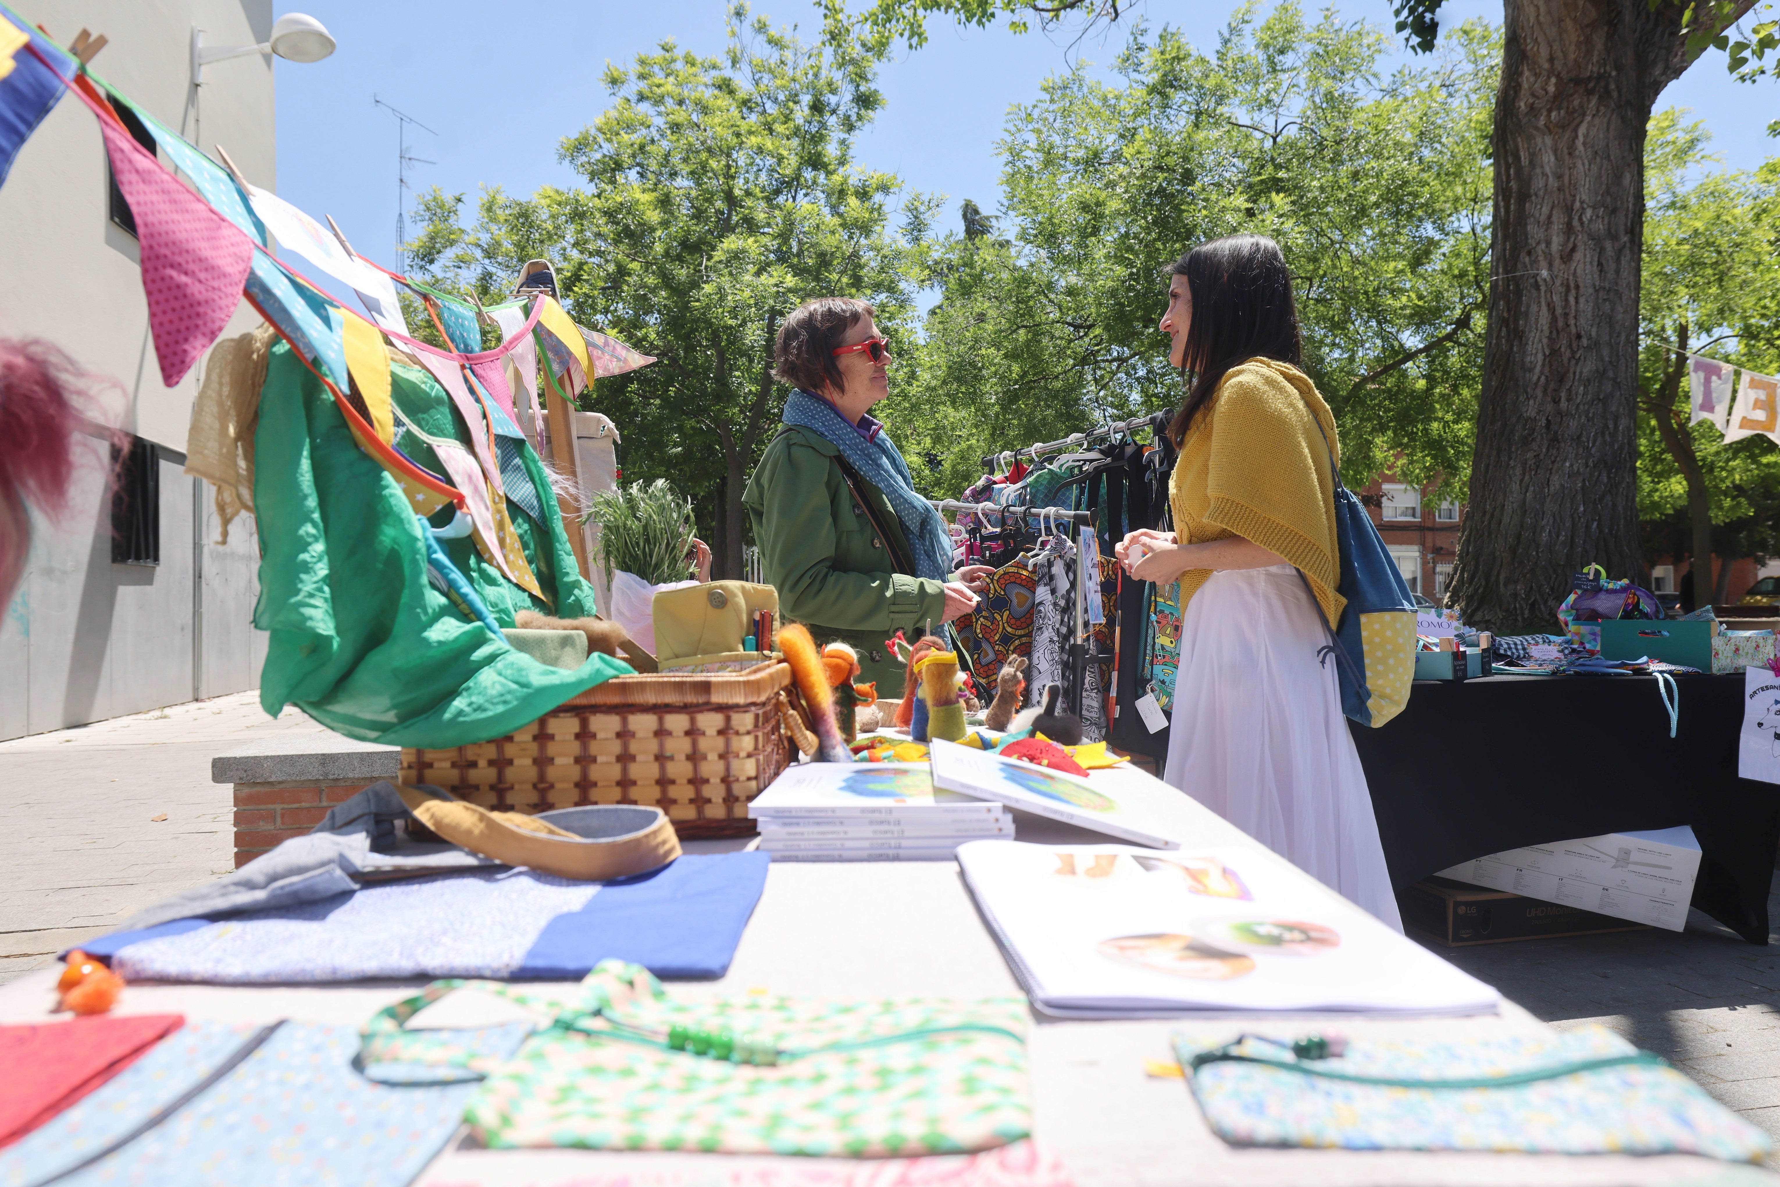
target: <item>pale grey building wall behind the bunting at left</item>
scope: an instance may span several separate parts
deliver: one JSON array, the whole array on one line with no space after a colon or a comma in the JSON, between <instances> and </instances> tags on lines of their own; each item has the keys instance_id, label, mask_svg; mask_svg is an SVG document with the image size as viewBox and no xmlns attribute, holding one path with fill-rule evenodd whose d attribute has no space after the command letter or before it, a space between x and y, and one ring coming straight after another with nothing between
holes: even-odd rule
<instances>
[{"instance_id":1,"label":"pale grey building wall behind the bunting at left","mask_svg":"<svg viewBox=\"0 0 1780 1187\"><path fill-rule=\"evenodd\" d=\"M271 0L9 0L62 44L82 27L109 44L93 69L214 155L221 142L276 187L272 66L212 62L192 85L192 27L205 44L271 36ZM82 441L75 498L34 520L25 580L0 619L0 739L142 712L258 683L251 628L258 546L251 518L217 543L214 491L182 473L203 363L160 381L137 240L110 221L105 148L93 114L64 96L0 187L0 335L41 336L107 381L114 424L160 448L160 564L110 561L109 448ZM226 335L258 324L246 306Z\"/></svg>"}]
</instances>

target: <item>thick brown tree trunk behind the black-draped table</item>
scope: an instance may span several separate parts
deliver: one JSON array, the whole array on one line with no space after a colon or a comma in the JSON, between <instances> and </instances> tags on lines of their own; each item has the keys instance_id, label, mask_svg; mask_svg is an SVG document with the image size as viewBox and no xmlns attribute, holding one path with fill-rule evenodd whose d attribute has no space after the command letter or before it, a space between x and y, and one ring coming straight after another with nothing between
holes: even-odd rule
<instances>
[{"instance_id":1,"label":"thick brown tree trunk behind the black-draped table","mask_svg":"<svg viewBox=\"0 0 1780 1187\"><path fill-rule=\"evenodd\" d=\"M1549 632L1570 575L1639 571L1638 281L1645 126L1686 66L1682 11L1506 0L1465 621Z\"/></svg>"}]
</instances>

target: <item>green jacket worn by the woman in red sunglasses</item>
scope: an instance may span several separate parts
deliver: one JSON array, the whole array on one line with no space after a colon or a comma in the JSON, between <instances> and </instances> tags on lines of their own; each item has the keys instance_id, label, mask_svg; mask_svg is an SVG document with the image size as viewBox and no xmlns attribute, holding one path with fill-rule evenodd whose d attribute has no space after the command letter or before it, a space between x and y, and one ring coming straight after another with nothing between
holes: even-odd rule
<instances>
[{"instance_id":1,"label":"green jacket worn by the woman in red sunglasses","mask_svg":"<svg viewBox=\"0 0 1780 1187\"><path fill-rule=\"evenodd\" d=\"M860 680L878 696L902 696L902 662L885 641L913 637L945 614L945 584L913 577L902 523L883 491L856 479L858 505L840 472L840 450L813 429L785 425L767 445L742 493L765 582L780 614L805 623L817 642L847 642L860 653ZM885 527L883 539L872 521Z\"/></svg>"}]
</instances>

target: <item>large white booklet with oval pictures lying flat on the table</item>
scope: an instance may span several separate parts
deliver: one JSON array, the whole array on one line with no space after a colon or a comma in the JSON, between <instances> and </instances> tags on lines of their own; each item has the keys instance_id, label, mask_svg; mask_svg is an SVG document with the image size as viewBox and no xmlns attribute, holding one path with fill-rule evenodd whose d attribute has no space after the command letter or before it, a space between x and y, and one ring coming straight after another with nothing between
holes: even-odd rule
<instances>
[{"instance_id":1,"label":"large white booklet with oval pictures lying flat on the table","mask_svg":"<svg viewBox=\"0 0 1780 1187\"><path fill-rule=\"evenodd\" d=\"M970 892L1061 1018L1479 1014L1476 977L1253 849L970 842Z\"/></svg>"}]
</instances>

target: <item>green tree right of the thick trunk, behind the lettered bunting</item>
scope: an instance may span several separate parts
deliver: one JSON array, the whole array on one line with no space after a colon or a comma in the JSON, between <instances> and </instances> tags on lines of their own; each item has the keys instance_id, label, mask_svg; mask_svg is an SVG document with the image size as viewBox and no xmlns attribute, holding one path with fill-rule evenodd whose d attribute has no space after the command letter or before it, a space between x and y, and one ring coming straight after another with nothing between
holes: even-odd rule
<instances>
[{"instance_id":1,"label":"green tree right of the thick trunk, behind the lettered bunting","mask_svg":"<svg viewBox=\"0 0 1780 1187\"><path fill-rule=\"evenodd\" d=\"M1646 557L1687 552L1700 603L1725 600L1728 559L1773 553L1780 525L1780 448L1687 424L1682 351L1780 370L1780 158L1753 174L1700 176L1714 160L1707 141L1677 109L1650 121L1638 392ZM1675 530L1680 521L1686 530ZM1714 552L1727 557L1716 580Z\"/></svg>"}]
</instances>

